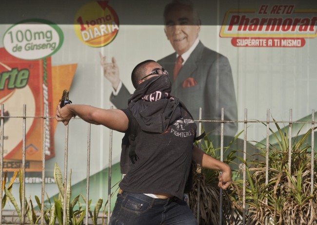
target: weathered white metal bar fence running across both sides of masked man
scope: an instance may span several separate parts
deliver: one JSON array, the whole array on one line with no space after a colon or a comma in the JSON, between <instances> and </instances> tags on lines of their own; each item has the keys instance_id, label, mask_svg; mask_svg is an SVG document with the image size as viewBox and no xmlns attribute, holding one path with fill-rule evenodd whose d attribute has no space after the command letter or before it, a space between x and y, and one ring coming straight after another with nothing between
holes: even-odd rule
<instances>
[{"instance_id":1,"label":"weathered white metal bar fence running across both sides of masked man","mask_svg":"<svg viewBox=\"0 0 317 225\"><path fill-rule=\"evenodd\" d=\"M47 112L46 110L46 105L44 106L44 112ZM1 105L1 116L0 116L0 130L1 130L1 135L0 135L0 187L2 187L3 185L3 137L5 134L5 130L4 130L4 119L7 118L6 116L3 115L4 112L4 105ZM201 109L200 109L201 112ZM244 110L244 120L243 121L224 121L224 109L222 109L222 119L221 121L207 121L207 120L201 120L201 117L196 120L199 123L199 132L201 130L201 122L209 122L209 123L221 123L221 135L220 135L220 160L223 161L223 148L224 148L224 144L223 144L223 125L224 123L242 123L243 124L243 159L244 161L246 161L246 157L247 157L247 130L248 130L248 124L250 123L263 123L266 125L266 181L265 184L268 184L268 173L269 173L269 136L270 136L270 124L271 123L288 123L289 125L289 132L288 132L288 140L289 140L289 168L288 168L288 172L291 174L292 170L291 170L291 140L292 140L292 125L294 123L301 123L301 124L310 124L311 125L311 129L312 129L312 135L311 135L311 151L314 152L314 130L315 130L315 111L312 111L312 117L311 117L311 121L309 122L293 122L292 120L292 110L290 110L289 112L289 121L285 122L285 121L273 121L270 120L270 110L267 110L267 119L266 121L255 121L255 120L248 120L248 116L247 116L247 109ZM201 115L201 113L200 113ZM12 118L12 117L10 117ZM21 208L20 211L22 212L21 214L24 215L25 212L25 181L24 181L24 174L25 174L25 138L26 138L26 119L27 118L34 118L34 119L38 119L38 120L43 120L43 149L45 149L45 141L46 141L46 128L47 128L47 124L48 120L53 120L53 117L47 117L47 115L43 115L42 117L27 117L26 116L26 105L23 105L23 116L21 117L13 117L13 118L21 118L23 120L23 145L22 145L22 166L21 166L21 170L22 170L22 196L21 196L21 200L22 200L22 204L21 204ZM88 125L88 135L87 135L87 175L86 175L86 179L87 179L87 183L86 183L86 200L88 201L89 199L89 177L90 177L90 139L91 139L91 124L87 123ZM18 129L18 128L17 128ZM199 133L200 134L200 133ZM110 212L110 203L111 203L111 174L112 174L112 170L111 170L111 166L112 166L112 130L110 130L110 136L109 136L109 177L108 177L108 212ZM45 193L45 186L44 186L44 181L45 181L45 151L42 151L42 185L41 185L41 209L40 209L40 224L46 224L44 221L44 193ZM314 188L314 154L311 154L311 195L313 195L313 188ZM67 184L67 162L68 162L68 125L65 126L65 152L64 152L64 184ZM243 164L243 168L242 168L242 172L243 172L243 200L242 200L242 208L243 208L243 215L242 215L242 224L245 225L246 224L246 165ZM222 190L220 190L220 211L219 211L219 224L222 224L221 218L222 218ZM64 188L64 202L66 202L66 188ZM2 203L2 194L0 195L0 202ZM317 212L313 211L314 208L311 206L311 219L313 220L313 218L316 218L316 214ZM2 218L4 217L3 215L3 208L2 208L2 204L0 204L0 225L6 225L6 223L2 222ZM199 212L199 209L198 209ZM88 207L86 207L86 215L88 214ZM109 214L110 216L110 214ZM66 204L63 204L63 225L66 224ZM85 224L88 225L88 218L89 216L85 217ZM199 216L198 216L198 224L199 224ZM109 221L109 220L107 220ZM106 222L108 223L108 222ZM12 223L10 223L12 224ZM15 224L15 223L13 223ZM29 221L27 221L26 218L24 218L22 216L22 221L20 224L29 224Z\"/></svg>"}]
</instances>

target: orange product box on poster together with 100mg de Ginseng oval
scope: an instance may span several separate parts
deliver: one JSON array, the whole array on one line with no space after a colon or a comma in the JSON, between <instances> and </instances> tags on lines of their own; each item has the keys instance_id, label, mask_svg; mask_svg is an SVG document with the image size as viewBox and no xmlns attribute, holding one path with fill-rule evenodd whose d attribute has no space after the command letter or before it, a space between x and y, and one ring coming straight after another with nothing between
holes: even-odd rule
<instances>
[{"instance_id":1,"label":"orange product box on poster together with 100mg de Ginseng oval","mask_svg":"<svg viewBox=\"0 0 317 225\"><path fill-rule=\"evenodd\" d=\"M44 113L55 115L55 103L59 101L63 88L71 85L76 65L52 67L51 55L62 45L63 34L56 24L46 20L24 20L12 25L3 35L0 48L1 104L4 104L4 170L14 171L21 167L22 160L22 120L23 104L26 105L25 128L26 171L40 172L42 152L45 159L53 158L54 133L57 123L49 120L45 130L43 148ZM64 78L63 76L67 76ZM59 85L60 80L63 83ZM44 112L44 104L47 105ZM21 114L22 113L22 114ZM20 128L20 129L19 129Z\"/></svg>"}]
</instances>

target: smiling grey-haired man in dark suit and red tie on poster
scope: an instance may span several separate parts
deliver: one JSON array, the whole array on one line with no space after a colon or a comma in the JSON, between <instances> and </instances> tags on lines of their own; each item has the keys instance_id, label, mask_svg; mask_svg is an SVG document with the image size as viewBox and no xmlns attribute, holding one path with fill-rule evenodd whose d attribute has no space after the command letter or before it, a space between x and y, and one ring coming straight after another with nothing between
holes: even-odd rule
<instances>
[{"instance_id":1,"label":"smiling grey-haired man in dark suit and red tie on poster","mask_svg":"<svg viewBox=\"0 0 317 225\"><path fill-rule=\"evenodd\" d=\"M237 121L237 101L228 59L205 47L199 41L200 19L193 3L189 0L174 0L164 9L164 32L175 52L158 60L169 72L172 96L178 96L199 119L221 120L224 108L225 121ZM114 58L107 62L100 54L104 76L111 82L113 92L110 101L117 108L127 106L131 94L120 81L119 67ZM202 123L206 133L220 135L220 123ZM224 123L224 135L234 137L237 123ZM231 139L231 138L230 138Z\"/></svg>"}]
</instances>

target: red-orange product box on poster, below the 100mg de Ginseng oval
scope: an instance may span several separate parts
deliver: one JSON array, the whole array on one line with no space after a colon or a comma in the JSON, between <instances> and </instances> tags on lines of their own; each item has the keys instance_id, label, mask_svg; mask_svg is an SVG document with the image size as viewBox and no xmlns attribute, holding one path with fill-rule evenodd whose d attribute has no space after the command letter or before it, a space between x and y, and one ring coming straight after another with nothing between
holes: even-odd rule
<instances>
[{"instance_id":1,"label":"red-orange product box on poster, below the 100mg de Ginseng oval","mask_svg":"<svg viewBox=\"0 0 317 225\"><path fill-rule=\"evenodd\" d=\"M70 88L76 67L77 64L52 66L51 57L21 60L0 48L0 104L4 104L4 116L9 116L4 118L4 161L22 164L23 104L26 105L26 171L41 171L44 123L45 159L55 156L55 108L62 90ZM47 121L42 118L44 104L47 105L46 115L51 117ZM4 170L14 171L12 162L9 164Z\"/></svg>"}]
</instances>

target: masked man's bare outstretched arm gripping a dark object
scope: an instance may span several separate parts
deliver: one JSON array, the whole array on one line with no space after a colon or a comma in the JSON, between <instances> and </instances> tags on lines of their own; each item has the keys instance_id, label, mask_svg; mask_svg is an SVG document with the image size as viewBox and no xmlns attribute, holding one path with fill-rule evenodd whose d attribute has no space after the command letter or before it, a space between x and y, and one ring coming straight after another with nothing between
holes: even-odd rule
<instances>
[{"instance_id":1,"label":"masked man's bare outstretched arm gripping a dark object","mask_svg":"<svg viewBox=\"0 0 317 225\"><path fill-rule=\"evenodd\" d=\"M110 129L124 132L128 128L129 120L125 113L119 109L101 109L90 105L66 104L56 107L55 119L67 125L70 119L77 115L88 123L104 125Z\"/></svg>"}]
</instances>

